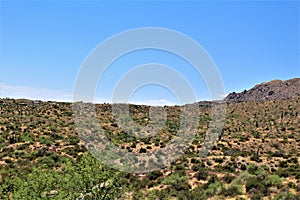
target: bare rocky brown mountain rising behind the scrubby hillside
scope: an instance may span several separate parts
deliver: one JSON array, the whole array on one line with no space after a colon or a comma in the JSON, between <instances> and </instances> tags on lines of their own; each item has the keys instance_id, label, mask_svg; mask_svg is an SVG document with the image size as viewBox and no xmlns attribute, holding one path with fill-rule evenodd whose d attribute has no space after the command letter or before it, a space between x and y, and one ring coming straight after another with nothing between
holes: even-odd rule
<instances>
[{"instance_id":1,"label":"bare rocky brown mountain rising behind the scrubby hillside","mask_svg":"<svg viewBox=\"0 0 300 200\"><path fill-rule=\"evenodd\" d=\"M290 99L300 96L300 78L294 78L286 81L273 80L270 82L260 83L250 90L243 92L230 93L226 98L226 102L243 102L243 101L266 101Z\"/></svg>"}]
</instances>

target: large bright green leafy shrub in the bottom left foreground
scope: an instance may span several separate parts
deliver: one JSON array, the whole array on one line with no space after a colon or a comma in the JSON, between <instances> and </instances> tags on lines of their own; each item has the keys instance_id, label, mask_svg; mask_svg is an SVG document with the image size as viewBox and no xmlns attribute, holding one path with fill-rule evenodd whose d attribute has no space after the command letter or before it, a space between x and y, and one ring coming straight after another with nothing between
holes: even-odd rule
<instances>
[{"instance_id":1,"label":"large bright green leafy shrub in the bottom left foreground","mask_svg":"<svg viewBox=\"0 0 300 200\"><path fill-rule=\"evenodd\" d=\"M4 178L0 179L0 199L8 199L9 195L13 199L78 199L80 193L91 199L103 199L107 193L107 199L114 199L120 198L121 191L126 187L120 172L100 168L98 161L87 153L76 163L66 160L61 172L47 166L51 158L39 160L40 167L31 167L27 172L22 171L24 174L20 171L1 171ZM101 183L105 185L95 187Z\"/></svg>"}]
</instances>

